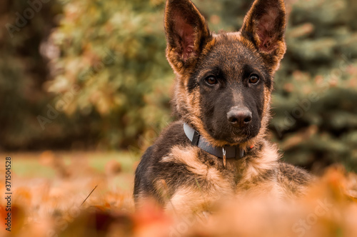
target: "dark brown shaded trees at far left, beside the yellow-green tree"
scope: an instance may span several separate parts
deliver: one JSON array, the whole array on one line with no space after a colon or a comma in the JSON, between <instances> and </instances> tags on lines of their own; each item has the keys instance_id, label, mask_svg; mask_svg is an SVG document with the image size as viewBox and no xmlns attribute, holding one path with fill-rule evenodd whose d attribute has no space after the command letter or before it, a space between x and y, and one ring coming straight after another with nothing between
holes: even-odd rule
<instances>
[{"instance_id":1,"label":"dark brown shaded trees at far left, beside the yellow-green tree","mask_svg":"<svg viewBox=\"0 0 357 237\"><path fill-rule=\"evenodd\" d=\"M99 140L97 114L69 118L52 111L55 95L44 90L51 77L44 49L62 4L66 2L0 2L1 150L85 148ZM40 123L39 116L47 120Z\"/></svg>"}]
</instances>

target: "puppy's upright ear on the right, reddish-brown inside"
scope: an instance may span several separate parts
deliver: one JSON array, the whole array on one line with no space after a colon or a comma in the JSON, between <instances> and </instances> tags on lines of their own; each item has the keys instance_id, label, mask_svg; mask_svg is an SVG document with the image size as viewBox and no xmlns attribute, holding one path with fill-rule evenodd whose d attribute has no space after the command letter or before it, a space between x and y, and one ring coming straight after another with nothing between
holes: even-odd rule
<instances>
[{"instance_id":1,"label":"puppy's upright ear on the right, reddish-brown inside","mask_svg":"<svg viewBox=\"0 0 357 237\"><path fill-rule=\"evenodd\" d=\"M244 18L241 35L251 41L273 69L286 51L286 10L283 0L256 0Z\"/></svg>"}]
</instances>

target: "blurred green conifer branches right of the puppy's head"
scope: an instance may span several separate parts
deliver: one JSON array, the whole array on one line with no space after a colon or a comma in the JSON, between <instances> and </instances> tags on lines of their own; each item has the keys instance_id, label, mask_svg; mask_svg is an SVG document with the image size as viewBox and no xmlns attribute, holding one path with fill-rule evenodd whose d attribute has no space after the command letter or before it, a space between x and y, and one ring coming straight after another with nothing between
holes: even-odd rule
<instances>
[{"instance_id":1,"label":"blurred green conifer branches right of the puppy's head","mask_svg":"<svg viewBox=\"0 0 357 237\"><path fill-rule=\"evenodd\" d=\"M357 170L356 1L296 1L276 75L271 130L292 163Z\"/></svg>"}]
</instances>

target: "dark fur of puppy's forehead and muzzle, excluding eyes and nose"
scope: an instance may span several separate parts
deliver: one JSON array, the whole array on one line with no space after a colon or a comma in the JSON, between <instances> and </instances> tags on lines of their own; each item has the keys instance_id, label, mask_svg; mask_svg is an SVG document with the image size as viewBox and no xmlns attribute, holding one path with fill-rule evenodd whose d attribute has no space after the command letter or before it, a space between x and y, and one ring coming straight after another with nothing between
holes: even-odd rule
<instances>
[{"instance_id":1,"label":"dark fur of puppy's forehead and muzzle, excluding eyes and nose","mask_svg":"<svg viewBox=\"0 0 357 237\"><path fill-rule=\"evenodd\" d=\"M262 65L240 42L228 39L220 41L198 61L188 90L193 84L199 87L201 120L213 138L242 143L258 134L264 104L263 87L271 88L271 78ZM259 76L257 84L248 83L251 74ZM214 76L218 84L208 86L205 82L208 76ZM234 106L251 111L253 119L248 127L234 128L228 122L227 113Z\"/></svg>"}]
</instances>

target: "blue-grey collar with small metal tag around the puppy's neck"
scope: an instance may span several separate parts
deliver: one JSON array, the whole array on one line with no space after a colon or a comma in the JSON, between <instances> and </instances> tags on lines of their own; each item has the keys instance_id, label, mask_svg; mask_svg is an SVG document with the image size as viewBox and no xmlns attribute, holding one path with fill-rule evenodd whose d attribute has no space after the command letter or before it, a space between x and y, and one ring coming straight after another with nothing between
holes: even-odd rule
<instances>
[{"instance_id":1,"label":"blue-grey collar with small metal tag around the puppy's neck","mask_svg":"<svg viewBox=\"0 0 357 237\"><path fill-rule=\"evenodd\" d=\"M240 146L212 146L208 143L208 141L206 141L205 138L203 138L203 136L200 135L200 133L198 133L198 131L191 128L191 126L187 123L183 123L183 131L185 131L186 136L190 139L193 146L198 146L203 151L206 151L213 156L223 158L224 166L226 166L226 158L240 159L245 156L245 152Z\"/></svg>"}]
</instances>

